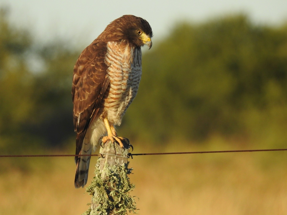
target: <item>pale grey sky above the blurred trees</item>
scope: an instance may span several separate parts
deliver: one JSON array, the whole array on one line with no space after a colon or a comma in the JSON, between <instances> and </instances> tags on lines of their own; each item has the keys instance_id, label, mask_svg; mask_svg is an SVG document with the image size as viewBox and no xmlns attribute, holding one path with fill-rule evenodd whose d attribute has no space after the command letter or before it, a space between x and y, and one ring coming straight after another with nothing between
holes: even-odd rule
<instances>
[{"instance_id":1,"label":"pale grey sky above the blurred trees","mask_svg":"<svg viewBox=\"0 0 287 215\"><path fill-rule=\"evenodd\" d=\"M179 20L198 22L243 12L256 23L278 25L287 21L287 0L0 0L0 6L9 6L11 22L31 28L38 41L60 37L85 45L124 14L146 19L154 40L167 35Z\"/></svg>"}]
</instances>

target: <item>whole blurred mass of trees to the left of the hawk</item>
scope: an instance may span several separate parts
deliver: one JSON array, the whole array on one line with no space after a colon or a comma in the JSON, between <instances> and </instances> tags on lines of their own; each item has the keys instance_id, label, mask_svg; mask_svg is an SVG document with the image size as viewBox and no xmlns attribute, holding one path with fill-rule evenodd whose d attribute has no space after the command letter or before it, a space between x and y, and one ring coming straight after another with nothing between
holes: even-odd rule
<instances>
[{"instance_id":1,"label":"whole blurred mass of trees to the left of the hawk","mask_svg":"<svg viewBox=\"0 0 287 215\"><path fill-rule=\"evenodd\" d=\"M0 149L61 146L73 135L71 79L78 51L39 46L0 10ZM35 66L36 65L36 66Z\"/></svg>"}]
</instances>

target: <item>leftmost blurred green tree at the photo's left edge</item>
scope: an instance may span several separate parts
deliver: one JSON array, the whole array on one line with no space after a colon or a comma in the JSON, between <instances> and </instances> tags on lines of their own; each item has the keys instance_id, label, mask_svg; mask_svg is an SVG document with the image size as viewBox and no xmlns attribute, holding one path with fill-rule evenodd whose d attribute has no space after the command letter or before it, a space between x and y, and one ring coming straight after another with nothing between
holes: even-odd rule
<instances>
[{"instance_id":1,"label":"leftmost blurred green tree at the photo's left edge","mask_svg":"<svg viewBox=\"0 0 287 215\"><path fill-rule=\"evenodd\" d=\"M9 26L6 13L0 10L0 147L13 151L28 138L21 126L33 112L34 81L25 62L30 35Z\"/></svg>"}]
</instances>

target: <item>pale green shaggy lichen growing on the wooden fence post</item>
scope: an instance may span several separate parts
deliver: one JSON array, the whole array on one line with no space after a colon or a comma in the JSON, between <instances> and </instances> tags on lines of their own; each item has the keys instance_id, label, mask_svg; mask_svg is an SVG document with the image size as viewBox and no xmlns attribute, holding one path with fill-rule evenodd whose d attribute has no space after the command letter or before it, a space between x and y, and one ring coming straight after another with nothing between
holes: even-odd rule
<instances>
[{"instance_id":1,"label":"pale green shaggy lichen growing on the wooden fence post","mask_svg":"<svg viewBox=\"0 0 287 215\"><path fill-rule=\"evenodd\" d=\"M128 164L108 167L106 179L101 178L99 170L99 160L96 164L95 177L86 191L92 196L92 208L89 208L82 215L96 214L127 214L127 211L136 213L136 203L134 196L130 192L135 188L131 184L127 174L132 169L128 169Z\"/></svg>"}]
</instances>

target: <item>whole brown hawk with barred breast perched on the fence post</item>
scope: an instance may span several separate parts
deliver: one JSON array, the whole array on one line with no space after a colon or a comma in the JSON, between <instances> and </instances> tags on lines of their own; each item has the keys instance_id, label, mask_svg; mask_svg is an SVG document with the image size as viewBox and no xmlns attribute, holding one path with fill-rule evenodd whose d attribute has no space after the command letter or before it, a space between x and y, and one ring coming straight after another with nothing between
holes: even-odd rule
<instances>
[{"instance_id":1,"label":"whole brown hawk with barred breast perched on the fence post","mask_svg":"<svg viewBox=\"0 0 287 215\"><path fill-rule=\"evenodd\" d=\"M152 28L145 19L123 15L80 54L72 84L76 155L90 155L100 141L109 139L123 146L125 138L117 136L114 125L121 124L137 94L141 46L151 48L151 38ZM75 162L75 187L84 187L90 156L76 156Z\"/></svg>"}]
</instances>

